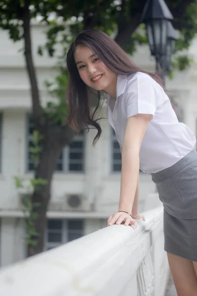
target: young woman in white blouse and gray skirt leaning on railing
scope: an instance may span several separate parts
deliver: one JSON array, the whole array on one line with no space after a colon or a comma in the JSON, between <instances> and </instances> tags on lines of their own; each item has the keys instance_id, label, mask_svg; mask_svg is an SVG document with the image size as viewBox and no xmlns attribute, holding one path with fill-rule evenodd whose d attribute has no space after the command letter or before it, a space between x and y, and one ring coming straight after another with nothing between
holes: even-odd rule
<instances>
[{"instance_id":1,"label":"young woman in white blouse and gray skirt leaning on railing","mask_svg":"<svg viewBox=\"0 0 197 296\"><path fill-rule=\"evenodd\" d=\"M197 296L197 152L191 130L179 123L156 74L136 67L108 35L81 32L67 53L68 124L77 132L101 128L90 114L91 94L107 95L107 118L122 153L117 213L108 219L132 225L138 213L139 169L152 175L164 204L164 249L179 296Z\"/></svg>"}]
</instances>

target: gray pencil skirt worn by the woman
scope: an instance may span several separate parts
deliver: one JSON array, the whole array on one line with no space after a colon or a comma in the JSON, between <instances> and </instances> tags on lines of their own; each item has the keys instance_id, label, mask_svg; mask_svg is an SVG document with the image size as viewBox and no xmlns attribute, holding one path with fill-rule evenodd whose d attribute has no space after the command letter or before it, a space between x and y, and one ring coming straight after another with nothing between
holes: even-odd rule
<instances>
[{"instance_id":1,"label":"gray pencil skirt worn by the woman","mask_svg":"<svg viewBox=\"0 0 197 296\"><path fill-rule=\"evenodd\" d=\"M197 151L151 175L164 205L164 250L197 261Z\"/></svg>"}]
</instances>

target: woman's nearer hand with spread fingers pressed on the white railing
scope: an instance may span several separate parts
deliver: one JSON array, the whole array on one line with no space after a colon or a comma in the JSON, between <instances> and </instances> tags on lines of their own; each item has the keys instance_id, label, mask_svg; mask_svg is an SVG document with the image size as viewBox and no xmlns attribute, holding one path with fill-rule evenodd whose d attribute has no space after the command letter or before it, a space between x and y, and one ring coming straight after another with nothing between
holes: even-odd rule
<instances>
[{"instance_id":1,"label":"woman's nearer hand with spread fingers pressed on the white railing","mask_svg":"<svg viewBox=\"0 0 197 296\"><path fill-rule=\"evenodd\" d=\"M121 224L122 222L125 222L125 226L131 225L133 229L136 228L137 222L131 217L130 214L127 214L125 212L117 212L114 215L110 216L107 220L107 226L113 225L113 224Z\"/></svg>"}]
</instances>

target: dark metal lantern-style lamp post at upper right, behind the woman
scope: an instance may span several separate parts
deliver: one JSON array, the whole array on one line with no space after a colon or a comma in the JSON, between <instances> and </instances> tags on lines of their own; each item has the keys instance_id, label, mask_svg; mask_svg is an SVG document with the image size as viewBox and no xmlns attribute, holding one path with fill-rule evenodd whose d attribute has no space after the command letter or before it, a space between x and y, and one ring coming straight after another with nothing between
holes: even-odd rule
<instances>
[{"instance_id":1,"label":"dark metal lantern-style lamp post at upper right, behind the woman","mask_svg":"<svg viewBox=\"0 0 197 296\"><path fill-rule=\"evenodd\" d=\"M141 22L146 25L151 55L156 58L157 71L163 80L170 69L174 40L178 37L171 24L172 19L164 0L147 0Z\"/></svg>"}]
</instances>

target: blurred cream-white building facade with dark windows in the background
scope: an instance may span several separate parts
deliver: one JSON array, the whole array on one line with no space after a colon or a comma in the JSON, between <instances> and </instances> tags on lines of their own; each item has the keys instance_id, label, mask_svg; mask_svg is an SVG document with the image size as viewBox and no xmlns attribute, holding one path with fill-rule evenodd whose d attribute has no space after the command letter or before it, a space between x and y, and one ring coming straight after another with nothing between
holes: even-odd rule
<instances>
[{"instance_id":1,"label":"blurred cream-white building facade with dark windows in the background","mask_svg":"<svg viewBox=\"0 0 197 296\"><path fill-rule=\"evenodd\" d=\"M34 25L33 56L41 102L53 100L44 86L53 81L57 60L36 54L43 44L43 26ZM0 31L0 266L26 257L25 227L21 203L26 189L17 190L14 176L28 185L33 178L29 148L33 139L30 83L25 69L22 42L13 43ZM180 120L196 134L197 129L197 40L189 55L195 60L189 70L175 73L166 88ZM138 48L133 61L141 68L155 71L154 58L147 46ZM106 117L106 113L104 114ZM96 147L96 135L90 130L76 136L64 148L57 163L51 188L46 225L45 250L105 227L108 217L117 211L120 193L121 154L107 119L101 120L102 136ZM154 145L154 143L153 143ZM140 211L160 205L151 176L140 173Z\"/></svg>"}]
</instances>

